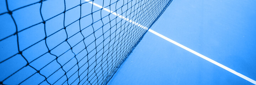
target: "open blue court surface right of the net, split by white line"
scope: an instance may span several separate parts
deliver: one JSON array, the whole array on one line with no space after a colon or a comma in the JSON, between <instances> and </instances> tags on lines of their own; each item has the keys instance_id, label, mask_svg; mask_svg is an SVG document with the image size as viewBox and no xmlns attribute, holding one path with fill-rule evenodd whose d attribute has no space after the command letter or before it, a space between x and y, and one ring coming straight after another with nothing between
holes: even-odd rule
<instances>
[{"instance_id":1,"label":"open blue court surface right of the net, split by white line","mask_svg":"<svg viewBox=\"0 0 256 85\"><path fill-rule=\"evenodd\" d=\"M255 0L174 0L152 30L256 80ZM146 33L108 85L252 85Z\"/></svg>"}]
</instances>

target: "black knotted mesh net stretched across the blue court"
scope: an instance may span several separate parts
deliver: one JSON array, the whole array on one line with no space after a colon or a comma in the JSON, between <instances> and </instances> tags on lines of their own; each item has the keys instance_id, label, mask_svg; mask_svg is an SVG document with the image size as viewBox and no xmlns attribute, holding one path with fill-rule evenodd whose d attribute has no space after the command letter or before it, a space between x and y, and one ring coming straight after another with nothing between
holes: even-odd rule
<instances>
[{"instance_id":1,"label":"black knotted mesh net stretched across the blue court","mask_svg":"<svg viewBox=\"0 0 256 85\"><path fill-rule=\"evenodd\" d=\"M0 85L106 85L172 0L1 0Z\"/></svg>"}]
</instances>

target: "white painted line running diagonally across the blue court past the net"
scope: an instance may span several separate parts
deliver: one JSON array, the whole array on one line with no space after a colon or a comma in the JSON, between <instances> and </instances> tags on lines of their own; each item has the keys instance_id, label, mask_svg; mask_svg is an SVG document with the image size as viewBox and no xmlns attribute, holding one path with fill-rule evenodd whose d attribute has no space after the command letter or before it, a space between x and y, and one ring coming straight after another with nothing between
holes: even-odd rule
<instances>
[{"instance_id":1,"label":"white painted line running diagonally across the blue court past the net","mask_svg":"<svg viewBox=\"0 0 256 85\"><path fill-rule=\"evenodd\" d=\"M87 2L89 2L89 3L91 3L91 4L95 5L95 6L97 6L97 7L99 7L99 8L103 8L102 6L100 6L100 5L98 5L98 4L94 3L94 2L92 2L92 1L90 1L90 0L85 0L85 1L87 1ZM145 26L143 26L143 25L141 25L141 24L139 24L139 23L137 23L137 22L134 22L134 21L132 21L132 20L126 18L126 17L123 17L123 16L121 16L121 15L119 15L119 14L117 14L117 13L114 13L113 11L108 10L107 8L103 8L103 10L105 10L105 11L107 11L107 12L110 12L111 14L116 15L116 16L118 16L118 17L120 17L120 18L122 18L122 19L124 19L124 20L126 20L126 21L129 21L129 22L131 22L131 23L135 24L136 26L139 26L139 27L141 27L141 28L143 28L143 29L146 29L146 30L148 29L147 27L145 27ZM155 35L157 35L157 36L159 36L159 37L161 37L161 38L163 38L163 39L165 39L165 40L167 40L167 41L169 41L169 42L171 42L171 43L173 43L173 44L175 44L175 45L177 45L177 46L179 46L179 47L181 47L182 49L185 49L185 50L187 50L187 51L189 51L189 52L191 52L191 53L193 53L193 54L195 54L195 55L197 55L197 56L203 58L204 60L207 60L207 61L209 61L209 62L211 62L211 63L213 63L213 64L215 64L215 65L217 65L217 66L219 66L219 67L221 67L221 68L223 68L223 69L225 69L225 70L228 70L229 72L231 72L231 73L233 73L233 74L235 74L235 75L237 75L237 76L239 76L239 77L241 77L241 78L243 78L243 79L245 79L245 80L247 80L247 81L249 81L249 82L251 82L251 83L253 83L253 84L256 85L256 81L255 81L255 80L252 80L252 79L246 77L245 75L242 75L242 74L236 72L235 70L232 70L232 69L230 69L230 68L224 66L223 64L220 64L220 63L218 63L218 62L216 62L216 61L214 61L214 60L212 60L212 59L210 59L210 58L208 58L208 57L206 57L206 56L204 56L204 55L202 55L202 54L200 54L200 53L198 53L198 52L196 52L196 51L194 51L194 50L191 50L191 49L189 49L188 47L186 47L186 46L184 46L184 45L181 45L181 44L179 44L178 42L176 42L176 41L174 41L174 40L171 40L171 39L167 38L166 36L161 35L161 34L155 32L154 30L149 29L148 31L151 32L151 33L153 33L153 34L155 34Z\"/></svg>"}]
</instances>

